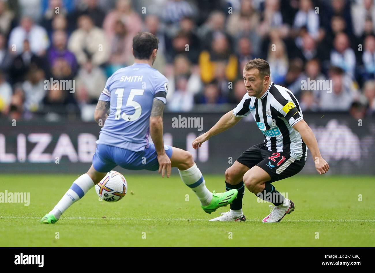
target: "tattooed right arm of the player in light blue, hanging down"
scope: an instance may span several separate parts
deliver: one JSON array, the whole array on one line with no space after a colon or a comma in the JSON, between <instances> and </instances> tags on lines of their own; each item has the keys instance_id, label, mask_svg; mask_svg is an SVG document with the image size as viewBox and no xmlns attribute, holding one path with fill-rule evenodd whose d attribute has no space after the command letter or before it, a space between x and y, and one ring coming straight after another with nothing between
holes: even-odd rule
<instances>
[{"instance_id":1,"label":"tattooed right arm of the player in light blue, hanging down","mask_svg":"<svg viewBox=\"0 0 375 273\"><path fill-rule=\"evenodd\" d=\"M150 135L156 148L157 161L159 162L159 173L161 171L162 177L164 177L164 172L166 171L166 176L169 177L171 174L171 160L165 153L163 142L164 107L164 102L156 98L153 99L150 117Z\"/></svg>"}]
</instances>

